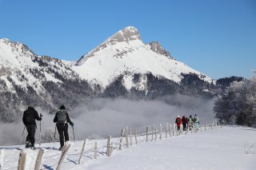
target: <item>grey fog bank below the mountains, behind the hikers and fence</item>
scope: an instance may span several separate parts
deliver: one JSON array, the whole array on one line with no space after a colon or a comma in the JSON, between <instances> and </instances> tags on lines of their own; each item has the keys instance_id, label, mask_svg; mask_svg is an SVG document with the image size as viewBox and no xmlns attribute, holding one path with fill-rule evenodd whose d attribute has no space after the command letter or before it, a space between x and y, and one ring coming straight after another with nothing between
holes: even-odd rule
<instances>
[{"instance_id":1,"label":"grey fog bank below the mountains, behind the hikers and fence","mask_svg":"<svg viewBox=\"0 0 256 170\"><path fill-rule=\"evenodd\" d=\"M157 101L133 101L129 99L94 99L86 105L70 110L71 121L74 121L76 140L84 140L92 134L106 137L119 136L122 128L138 128L144 132L147 126L159 127L161 123L174 124L179 116L189 117L198 114L201 122L212 121L214 101L205 101L202 98L175 96L162 97ZM42 132L54 129L54 115L43 113ZM0 125L0 145L18 144L22 136L22 122ZM69 128L70 140L73 140L72 128ZM36 138L38 138L39 124ZM26 134L23 137L25 140ZM24 141L23 140L23 141Z\"/></svg>"}]
</instances>

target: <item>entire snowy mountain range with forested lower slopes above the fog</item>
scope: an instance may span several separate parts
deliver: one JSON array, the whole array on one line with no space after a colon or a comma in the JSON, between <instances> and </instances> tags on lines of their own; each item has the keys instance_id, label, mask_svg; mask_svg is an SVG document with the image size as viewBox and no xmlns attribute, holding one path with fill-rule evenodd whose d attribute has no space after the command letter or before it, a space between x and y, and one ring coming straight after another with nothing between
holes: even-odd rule
<instances>
[{"instance_id":1,"label":"entire snowy mountain range with forested lower slopes above the fog","mask_svg":"<svg viewBox=\"0 0 256 170\"><path fill-rule=\"evenodd\" d=\"M214 80L171 57L158 42L145 44L134 27L104 43L71 62L0 39L0 121L19 119L28 105L53 114L59 105L74 109L94 97L218 93Z\"/></svg>"}]
</instances>

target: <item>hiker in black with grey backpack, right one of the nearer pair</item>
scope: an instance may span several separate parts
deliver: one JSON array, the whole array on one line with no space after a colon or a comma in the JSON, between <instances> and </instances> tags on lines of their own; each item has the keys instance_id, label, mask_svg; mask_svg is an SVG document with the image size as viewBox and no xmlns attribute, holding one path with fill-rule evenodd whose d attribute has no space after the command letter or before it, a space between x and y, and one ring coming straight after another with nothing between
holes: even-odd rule
<instances>
[{"instance_id":1,"label":"hiker in black with grey backpack, right one of the nearer pair","mask_svg":"<svg viewBox=\"0 0 256 170\"><path fill-rule=\"evenodd\" d=\"M61 144L61 147L58 150L62 151L62 148L64 146L64 137L65 142L69 140L69 125L67 123L69 123L71 126L74 126L74 123L70 121L69 114L66 112L64 105L62 105L58 112L55 114L54 123L56 123L59 134L59 141Z\"/></svg>"}]
</instances>

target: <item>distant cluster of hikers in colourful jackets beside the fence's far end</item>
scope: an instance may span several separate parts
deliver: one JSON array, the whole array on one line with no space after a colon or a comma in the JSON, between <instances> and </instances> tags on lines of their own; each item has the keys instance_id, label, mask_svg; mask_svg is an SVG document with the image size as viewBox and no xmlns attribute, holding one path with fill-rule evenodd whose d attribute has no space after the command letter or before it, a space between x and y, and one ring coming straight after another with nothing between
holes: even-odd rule
<instances>
[{"instance_id":1,"label":"distant cluster of hikers in colourful jackets beside the fence's far end","mask_svg":"<svg viewBox=\"0 0 256 170\"><path fill-rule=\"evenodd\" d=\"M175 120L175 124L177 125L178 132L181 130L181 125L183 126L183 131L186 131L187 129L192 130L192 128L195 128L198 130L199 128L199 118L197 114L194 114L194 117L190 115L190 117L177 117Z\"/></svg>"}]
</instances>

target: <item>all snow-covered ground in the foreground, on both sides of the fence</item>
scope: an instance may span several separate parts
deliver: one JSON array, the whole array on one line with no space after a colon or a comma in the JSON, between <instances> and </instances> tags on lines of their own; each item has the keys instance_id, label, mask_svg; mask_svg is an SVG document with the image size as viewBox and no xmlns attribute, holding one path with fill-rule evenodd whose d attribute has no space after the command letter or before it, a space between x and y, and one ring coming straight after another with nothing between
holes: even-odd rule
<instances>
[{"instance_id":1,"label":"all snow-covered ground in the foreground, on both sides of the fence","mask_svg":"<svg viewBox=\"0 0 256 170\"><path fill-rule=\"evenodd\" d=\"M165 136L165 133L163 133ZM151 137L151 136L150 136ZM151 139L151 138L150 138ZM70 148L62 169L226 169L253 170L256 166L256 129L238 126L207 129L182 136L168 136L146 143L145 136L138 137L138 144L118 150L118 138L113 138L114 152L106 156L106 140L98 141L98 158L94 160L94 142L88 140L82 164L78 163L82 141L77 141ZM74 142L73 142L74 144ZM116 144L116 145L115 145ZM254 146L246 154L250 145ZM60 152L53 150L58 144L42 144L45 155L42 169L55 169ZM17 148L23 146L1 147L0 164L2 169L15 169L18 166ZM77 151L76 151L77 149ZM26 149L26 169L34 169L34 159L38 149Z\"/></svg>"}]
</instances>

